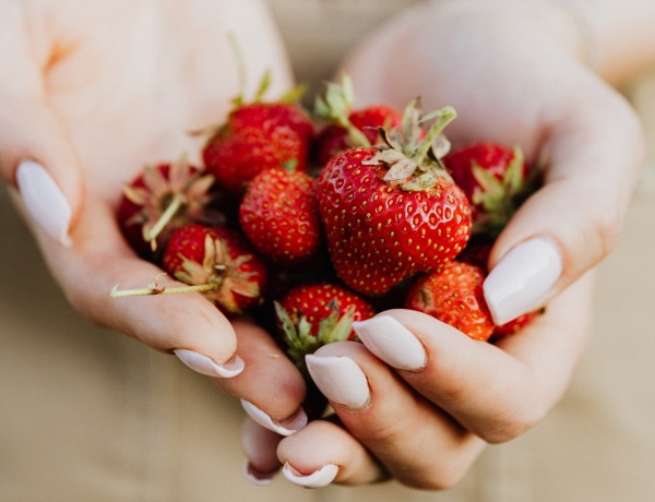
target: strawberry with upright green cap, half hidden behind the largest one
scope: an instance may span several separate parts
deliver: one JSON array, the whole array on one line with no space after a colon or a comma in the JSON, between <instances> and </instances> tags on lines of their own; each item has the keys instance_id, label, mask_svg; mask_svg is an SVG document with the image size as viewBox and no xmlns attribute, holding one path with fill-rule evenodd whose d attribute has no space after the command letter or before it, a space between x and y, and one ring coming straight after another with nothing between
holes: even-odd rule
<instances>
[{"instance_id":1,"label":"strawberry with upright green cap, half hidden behind the largest one","mask_svg":"<svg viewBox=\"0 0 655 502\"><path fill-rule=\"evenodd\" d=\"M388 105L370 105L354 109L353 83L344 75L342 85L329 82L325 96L317 98L317 116L324 122L313 144L313 157L325 166L342 150L371 146L382 142L380 128L402 125L403 115Z\"/></svg>"}]
</instances>

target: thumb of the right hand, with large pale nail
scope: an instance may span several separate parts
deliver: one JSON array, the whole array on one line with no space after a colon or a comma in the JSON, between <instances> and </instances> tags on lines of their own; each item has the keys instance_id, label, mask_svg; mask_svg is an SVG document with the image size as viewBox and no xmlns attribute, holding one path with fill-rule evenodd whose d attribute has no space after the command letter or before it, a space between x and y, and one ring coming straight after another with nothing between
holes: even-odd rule
<instances>
[{"instance_id":1,"label":"thumb of the right hand, with large pale nail","mask_svg":"<svg viewBox=\"0 0 655 502\"><path fill-rule=\"evenodd\" d=\"M595 79L581 72L580 79ZM545 186L499 237L485 296L497 324L545 304L614 248L639 178L643 138L618 94L599 82L556 95L543 152ZM559 97L558 97L559 96ZM568 104L568 105L567 105Z\"/></svg>"}]
</instances>

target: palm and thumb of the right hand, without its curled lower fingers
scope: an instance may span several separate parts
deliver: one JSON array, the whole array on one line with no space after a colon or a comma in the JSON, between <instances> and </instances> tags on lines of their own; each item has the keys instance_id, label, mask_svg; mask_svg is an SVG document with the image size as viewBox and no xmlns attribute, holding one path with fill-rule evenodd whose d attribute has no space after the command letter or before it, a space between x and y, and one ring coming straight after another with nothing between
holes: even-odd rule
<instances>
[{"instance_id":1,"label":"palm and thumb of the right hand, without its curled lower fingers","mask_svg":"<svg viewBox=\"0 0 655 502\"><path fill-rule=\"evenodd\" d=\"M347 64L362 101L404 106L419 95L427 110L453 106L445 133L455 146L519 145L544 165L544 187L491 252L486 295L499 323L611 251L642 168L641 124L587 65L594 41L560 3L426 2Z\"/></svg>"}]
</instances>

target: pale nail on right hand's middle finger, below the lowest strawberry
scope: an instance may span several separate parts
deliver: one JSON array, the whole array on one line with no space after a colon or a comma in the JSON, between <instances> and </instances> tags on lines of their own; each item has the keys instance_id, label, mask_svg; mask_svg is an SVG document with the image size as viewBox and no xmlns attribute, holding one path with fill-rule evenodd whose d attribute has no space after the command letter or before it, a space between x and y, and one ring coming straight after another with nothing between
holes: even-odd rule
<instances>
[{"instance_id":1,"label":"pale nail on right hand's middle finger, below the lowest strawberry","mask_svg":"<svg viewBox=\"0 0 655 502\"><path fill-rule=\"evenodd\" d=\"M327 399L353 409L366 406L370 399L368 380L361 368L349 357L305 357L307 370Z\"/></svg>"}]
</instances>

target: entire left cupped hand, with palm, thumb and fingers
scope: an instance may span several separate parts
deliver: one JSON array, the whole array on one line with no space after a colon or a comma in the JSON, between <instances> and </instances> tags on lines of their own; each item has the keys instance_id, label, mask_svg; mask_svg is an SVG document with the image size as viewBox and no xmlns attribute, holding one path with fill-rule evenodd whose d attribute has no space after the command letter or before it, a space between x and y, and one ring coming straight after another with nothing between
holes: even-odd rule
<instances>
[{"instance_id":1,"label":"entire left cupped hand, with palm, thumb and fingers","mask_svg":"<svg viewBox=\"0 0 655 502\"><path fill-rule=\"evenodd\" d=\"M231 323L199 294L109 294L116 284L144 288L160 273L121 237L123 183L147 164L198 159L202 140L189 132L224 120L230 100L253 96L264 72L272 96L291 85L266 13L254 1L3 2L0 33L0 170L70 302L196 371L239 374L252 355L236 354ZM260 347L271 348L266 357L277 350L270 345ZM283 418L305 391L285 368L290 383L269 378L250 392L243 385L252 379L241 373L230 390L261 402L261 390L286 385L295 402L270 410Z\"/></svg>"}]
</instances>

